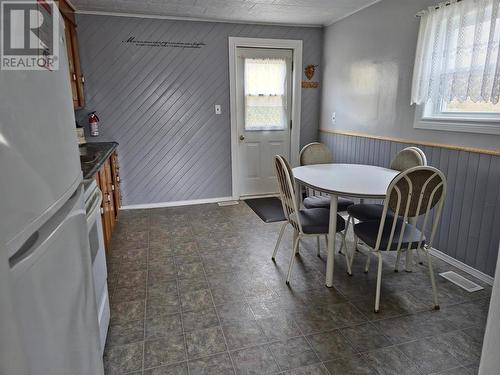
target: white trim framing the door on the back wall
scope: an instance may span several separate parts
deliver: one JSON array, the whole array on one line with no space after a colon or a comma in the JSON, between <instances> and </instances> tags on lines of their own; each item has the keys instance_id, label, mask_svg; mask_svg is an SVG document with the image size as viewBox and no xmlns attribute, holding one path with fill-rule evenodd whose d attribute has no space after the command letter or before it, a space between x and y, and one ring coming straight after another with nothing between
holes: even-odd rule
<instances>
[{"instance_id":1,"label":"white trim framing the door on the back wall","mask_svg":"<svg viewBox=\"0 0 500 375\"><path fill-rule=\"evenodd\" d=\"M238 173L238 129L236 113L236 48L284 48L293 51L293 86L292 86L292 132L290 134L290 162L298 165L300 147L300 111L302 79L302 40L262 39L229 37L229 92L231 105L231 175L232 198L240 199L240 178Z\"/></svg>"}]
</instances>

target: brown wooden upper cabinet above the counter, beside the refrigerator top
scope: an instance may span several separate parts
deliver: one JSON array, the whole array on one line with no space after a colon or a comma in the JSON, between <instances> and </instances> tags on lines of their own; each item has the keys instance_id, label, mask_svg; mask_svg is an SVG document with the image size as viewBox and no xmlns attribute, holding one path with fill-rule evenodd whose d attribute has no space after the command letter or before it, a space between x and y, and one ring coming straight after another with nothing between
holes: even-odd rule
<instances>
[{"instance_id":1,"label":"brown wooden upper cabinet above the counter, beside the refrigerator top","mask_svg":"<svg viewBox=\"0 0 500 375\"><path fill-rule=\"evenodd\" d=\"M76 34L75 11L65 0L57 2L59 10L64 19L66 49L68 53L69 79L71 82L71 94L73 96L73 107L83 108L85 96L83 94L83 84L85 79L80 66L80 54L78 50L78 36Z\"/></svg>"}]
</instances>

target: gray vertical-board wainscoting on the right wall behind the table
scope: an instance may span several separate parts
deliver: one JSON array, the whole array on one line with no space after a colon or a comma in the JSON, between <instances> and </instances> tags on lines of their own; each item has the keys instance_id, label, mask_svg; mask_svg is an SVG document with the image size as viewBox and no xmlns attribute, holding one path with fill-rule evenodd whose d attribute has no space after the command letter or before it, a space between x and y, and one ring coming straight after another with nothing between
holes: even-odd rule
<instances>
[{"instance_id":1,"label":"gray vertical-board wainscoting on the right wall behind the table","mask_svg":"<svg viewBox=\"0 0 500 375\"><path fill-rule=\"evenodd\" d=\"M320 133L336 163L388 167L400 143ZM448 193L434 247L490 276L494 275L500 241L500 156L418 146L446 175Z\"/></svg>"}]
</instances>

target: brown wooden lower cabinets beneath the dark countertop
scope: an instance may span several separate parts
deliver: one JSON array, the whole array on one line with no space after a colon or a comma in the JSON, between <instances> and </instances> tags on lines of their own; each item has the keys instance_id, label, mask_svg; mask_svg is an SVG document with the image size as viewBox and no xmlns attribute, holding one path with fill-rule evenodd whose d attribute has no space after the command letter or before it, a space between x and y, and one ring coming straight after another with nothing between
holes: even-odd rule
<instances>
[{"instance_id":1,"label":"brown wooden lower cabinets beneath the dark countertop","mask_svg":"<svg viewBox=\"0 0 500 375\"><path fill-rule=\"evenodd\" d=\"M119 169L118 156L116 151L113 151L95 177L97 185L102 192L101 219L106 251L109 250L111 237L121 207Z\"/></svg>"}]
</instances>

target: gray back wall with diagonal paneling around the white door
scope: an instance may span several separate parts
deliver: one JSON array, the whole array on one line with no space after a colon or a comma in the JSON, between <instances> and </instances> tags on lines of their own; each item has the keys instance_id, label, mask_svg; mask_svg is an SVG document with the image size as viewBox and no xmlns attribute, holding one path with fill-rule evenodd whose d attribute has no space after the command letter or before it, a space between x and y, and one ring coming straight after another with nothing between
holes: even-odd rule
<instances>
[{"instance_id":1,"label":"gray back wall with diagonal paneling around the white door","mask_svg":"<svg viewBox=\"0 0 500 375\"><path fill-rule=\"evenodd\" d=\"M122 43L132 36L206 46ZM101 136L89 141L120 143L124 205L231 195L229 36L301 39L304 65L321 62L318 28L78 15L87 105L77 118L97 111ZM302 144L318 137L319 105L320 90L302 90Z\"/></svg>"}]
</instances>

